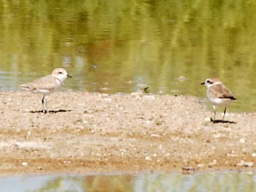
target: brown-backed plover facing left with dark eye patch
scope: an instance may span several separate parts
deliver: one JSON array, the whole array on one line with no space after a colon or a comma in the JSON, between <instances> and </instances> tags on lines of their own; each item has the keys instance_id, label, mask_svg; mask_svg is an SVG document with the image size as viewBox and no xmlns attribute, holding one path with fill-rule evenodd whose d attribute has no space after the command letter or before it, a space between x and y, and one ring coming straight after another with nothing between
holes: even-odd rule
<instances>
[{"instance_id":1,"label":"brown-backed plover facing left with dark eye patch","mask_svg":"<svg viewBox=\"0 0 256 192\"><path fill-rule=\"evenodd\" d=\"M216 115L216 107L218 105L224 106L224 115L222 120L224 120L227 105L232 101L236 100L232 92L223 85L220 79L216 77L211 77L205 80L204 83L201 83L207 87L206 95L210 102L212 102L214 108L214 120Z\"/></svg>"}]
</instances>

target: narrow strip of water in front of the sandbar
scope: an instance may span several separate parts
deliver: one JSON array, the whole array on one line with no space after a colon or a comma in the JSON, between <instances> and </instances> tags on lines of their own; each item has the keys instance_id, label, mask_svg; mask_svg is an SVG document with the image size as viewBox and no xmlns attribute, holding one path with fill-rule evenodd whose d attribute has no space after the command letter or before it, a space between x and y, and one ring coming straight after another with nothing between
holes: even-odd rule
<instances>
[{"instance_id":1,"label":"narrow strip of water in front of the sandbar","mask_svg":"<svg viewBox=\"0 0 256 192\"><path fill-rule=\"evenodd\" d=\"M256 191L256 175L218 172L215 174L139 174L96 176L36 176L0 178L1 192L251 192Z\"/></svg>"}]
</instances>

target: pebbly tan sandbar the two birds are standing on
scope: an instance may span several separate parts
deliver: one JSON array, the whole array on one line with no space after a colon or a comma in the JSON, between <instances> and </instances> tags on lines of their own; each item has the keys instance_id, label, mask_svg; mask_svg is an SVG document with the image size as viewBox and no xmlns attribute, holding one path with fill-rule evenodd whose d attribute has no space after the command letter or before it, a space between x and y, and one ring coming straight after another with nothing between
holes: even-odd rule
<instances>
[{"instance_id":1,"label":"pebbly tan sandbar the two birds are standing on","mask_svg":"<svg viewBox=\"0 0 256 192\"><path fill-rule=\"evenodd\" d=\"M1 175L255 171L256 113L213 123L193 96L56 92L43 114L41 97L0 92Z\"/></svg>"}]
</instances>

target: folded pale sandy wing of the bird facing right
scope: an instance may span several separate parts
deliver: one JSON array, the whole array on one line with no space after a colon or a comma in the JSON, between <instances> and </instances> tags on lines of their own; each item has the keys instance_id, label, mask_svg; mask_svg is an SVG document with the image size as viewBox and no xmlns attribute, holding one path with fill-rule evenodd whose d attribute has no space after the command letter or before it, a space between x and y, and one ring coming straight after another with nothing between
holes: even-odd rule
<instances>
[{"instance_id":1,"label":"folded pale sandy wing of the bird facing right","mask_svg":"<svg viewBox=\"0 0 256 192\"><path fill-rule=\"evenodd\" d=\"M41 77L40 79L34 80L32 83L28 83L30 90L53 90L56 89L56 78L47 75L44 77Z\"/></svg>"}]
</instances>

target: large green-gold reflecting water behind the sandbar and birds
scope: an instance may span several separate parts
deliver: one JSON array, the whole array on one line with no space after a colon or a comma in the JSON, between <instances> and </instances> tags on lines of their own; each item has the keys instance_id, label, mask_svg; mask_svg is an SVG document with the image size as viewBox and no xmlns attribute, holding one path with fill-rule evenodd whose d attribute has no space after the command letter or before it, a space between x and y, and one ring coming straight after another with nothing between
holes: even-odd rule
<instances>
[{"instance_id":1,"label":"large green-gold reflecting water behind the sandbar and birds","mask_svg":"<svg viewBox=\"0 0 256 192\"><path fill-rule=\"evenodd\" d=\"M256 3L190 1L2 1L0 89L17 89L54 67L74 78L64 89L205 97L220 77L254 110ZM184 76L185 82L176 78Z\"/></svg>"}]
</instances>

